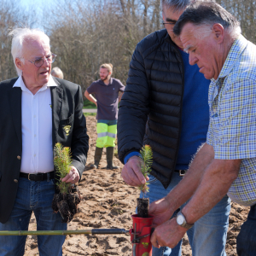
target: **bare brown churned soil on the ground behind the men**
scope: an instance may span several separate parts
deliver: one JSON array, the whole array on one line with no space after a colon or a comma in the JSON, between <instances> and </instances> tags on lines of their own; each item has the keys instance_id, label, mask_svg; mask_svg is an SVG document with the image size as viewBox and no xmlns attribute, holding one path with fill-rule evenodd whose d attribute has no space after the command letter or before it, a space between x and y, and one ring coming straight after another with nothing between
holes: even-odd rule
<instances>
[{"instance_id":1,"label":"bare brown churned soil on the ground behind the men","mask_svg":"<svg viewBox=\"0 0 256 256\"><path fill-rule=\"evenodd\" d=\"M87 117L87 128L90 136L90 148L87 165L79 183L81 202L78 213L68 224L68 230L87 229L125 229L132 226L131 214L135 213L139 191L126 185L120 172L123 165L114 157L113 164L119 170L107 170L106 151L103 150L99 169L90 169L94 160L96 145L96 119ZM229 256L236 254L236 236L241 224L246 220L249 207L241 207L232 203L230 212L230 228L226 244L226 253ZM36 230L36 220L32 215L29 230ZM37 236L28 236L26 239L27 256L39 255ZM63 255L131 255L130 235L71 235L66 237L63 245ZM191 249L187 236L183 239L183 256L191 256Z\"/></svg>"}]
</instances>

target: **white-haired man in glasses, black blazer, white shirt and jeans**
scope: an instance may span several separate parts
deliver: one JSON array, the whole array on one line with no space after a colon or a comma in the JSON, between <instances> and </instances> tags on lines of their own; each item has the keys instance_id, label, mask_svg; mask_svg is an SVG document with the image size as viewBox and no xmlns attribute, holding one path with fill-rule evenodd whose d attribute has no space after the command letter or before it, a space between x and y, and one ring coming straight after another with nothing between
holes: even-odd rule
<instances>
[{"instance_id":1,"label":"white-haired man in glasses, black blazer, white shirt and jeans","mask_svg":"<svg viewBox=\"0 0 256 256\"><path fill-rule=\"evenodd\" d=\"M59 182L54 146L71 148L72 166L62 182L79 182L89 137L82 91L50 75L55 56L49 38L38 29L10 33L19 78L1 82L0 230L27 230L34 212L38 230L67 230L51 207ZM38 236L40 255L62 255L65 236ZM0 236L0 255L23 255L26 236Z\"/></svg>"}]
</instances>

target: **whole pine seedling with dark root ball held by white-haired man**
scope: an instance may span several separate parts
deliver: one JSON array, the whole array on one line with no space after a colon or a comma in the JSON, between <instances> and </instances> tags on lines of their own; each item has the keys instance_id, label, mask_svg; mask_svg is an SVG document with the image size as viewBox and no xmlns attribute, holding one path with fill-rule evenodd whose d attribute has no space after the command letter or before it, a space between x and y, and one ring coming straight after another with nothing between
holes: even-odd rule
<instances>
[{"instance_id":1,"label":"whole pine seedling with dark root ball held by white-haired man","mask_svg":"<svg viewBox=\"0 0 256 256\"><path fill-rule=\"evenodd\" d=\"M56 174L60 177L66 177L71 169L71 151L70 148L63 147L61 143L55 144L54 164ZM69 222L78 210L80 202L79 190L74 188L71 183L59 181L57 183L59 194L55 194L52 201L52 208L55 212L60 212L62 221Z\"/></svg>"}]
</instances>

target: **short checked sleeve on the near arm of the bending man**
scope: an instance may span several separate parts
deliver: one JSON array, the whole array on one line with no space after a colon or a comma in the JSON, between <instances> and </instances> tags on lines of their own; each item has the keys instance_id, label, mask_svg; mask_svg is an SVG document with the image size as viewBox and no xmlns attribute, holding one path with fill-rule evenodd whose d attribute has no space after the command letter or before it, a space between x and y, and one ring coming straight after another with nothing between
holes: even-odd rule
<instances>
[{"instance_id":1,"label":"short checked sleeve on the near arm of the bending man","mask_svg":"<svg viewBox=\"0 0 256 256\"><path fill-rule=\"evenodd\" d=\"M215 159L235 160L256 157L256 83L237 79L226 84L219 99L218 114L210 117L207 143L214 137Z\"/></svg>"}]
</instances>

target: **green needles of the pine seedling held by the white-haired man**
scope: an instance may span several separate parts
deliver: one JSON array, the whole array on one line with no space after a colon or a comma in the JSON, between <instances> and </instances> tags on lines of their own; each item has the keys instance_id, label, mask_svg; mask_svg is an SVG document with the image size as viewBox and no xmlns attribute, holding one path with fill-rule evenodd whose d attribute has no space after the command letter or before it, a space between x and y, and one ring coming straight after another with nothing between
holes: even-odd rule
<instances>
[{"instance_id":1,"label":"green needles of the pine seedling held by the white-haired man","mask_svg":"<svg viewBox=\"0 0 256 256\"><path fill-rule=\"evenodd\" d=\"M61 177L67 176L70 171L70 166L72 164L71 160L71 150L68 147L63 147L61 143L55 144L55 159L54 165L56 168L56 173ZM71 183L59 182L57 183L60 192L62 194L68 194Z\"/></svg>"}]
</instances>

